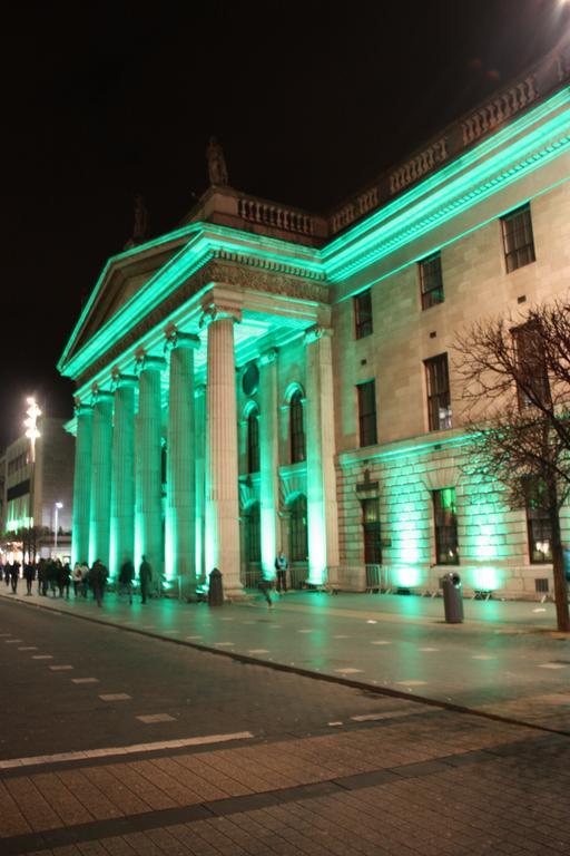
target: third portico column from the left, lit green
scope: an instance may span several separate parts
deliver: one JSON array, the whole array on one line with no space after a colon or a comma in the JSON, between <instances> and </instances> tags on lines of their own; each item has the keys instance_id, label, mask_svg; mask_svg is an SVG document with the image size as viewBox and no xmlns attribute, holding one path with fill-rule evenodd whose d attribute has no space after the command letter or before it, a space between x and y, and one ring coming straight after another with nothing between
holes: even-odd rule
<instances>
[{"instance_id":1,"label":"third portico column from the left, lit green","mask_svg":"<svg viewBox=\"0 0 570 856\"><path fill-rule=\"evenodd\" d=\"M110 574L135 561L135 390L134 374L119 374L112 432Z\"/></svg>"}]
</instances>

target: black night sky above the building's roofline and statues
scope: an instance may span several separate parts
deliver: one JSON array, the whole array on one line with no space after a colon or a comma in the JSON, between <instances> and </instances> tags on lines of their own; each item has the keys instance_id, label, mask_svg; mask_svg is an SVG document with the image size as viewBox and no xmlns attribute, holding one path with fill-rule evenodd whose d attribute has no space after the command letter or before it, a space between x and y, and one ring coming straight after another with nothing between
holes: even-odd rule
<instances>
[{"instance_id":1,"label":"black night sky above the building's roofline and statues","mask_svg":"<svg viewBox=\"0 0 570 856\"><path fill-rule=\"evenodd\" d=\"M561 0L28 2L3 19L0 442L142 193L176 225L223 143L230 183L325 211L556 45Z\"/></svg>"}]
</instances>

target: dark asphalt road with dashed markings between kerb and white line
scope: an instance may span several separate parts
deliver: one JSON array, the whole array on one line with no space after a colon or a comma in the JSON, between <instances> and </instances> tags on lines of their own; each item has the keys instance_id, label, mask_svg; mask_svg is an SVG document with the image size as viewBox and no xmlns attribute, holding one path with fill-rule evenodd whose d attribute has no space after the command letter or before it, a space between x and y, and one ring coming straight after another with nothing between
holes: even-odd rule
<instances>
[{"instance_id":1,"label":"dark asphalt road with dashed markings between kerb and white line","mask_svg":"<svg viewBox=\"0 0 570 856\"><path fill-rule=\"evenodd\" d=\"M306 736L402 704L1 602L0 655L0 760L243 730Z\"/></svg>"}]
</instances>

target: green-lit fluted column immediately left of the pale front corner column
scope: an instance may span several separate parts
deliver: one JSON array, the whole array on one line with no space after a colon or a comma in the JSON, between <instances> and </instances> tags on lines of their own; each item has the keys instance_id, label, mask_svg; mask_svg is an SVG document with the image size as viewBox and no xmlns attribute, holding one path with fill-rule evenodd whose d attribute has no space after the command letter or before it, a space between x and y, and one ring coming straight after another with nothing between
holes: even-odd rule
<instances>
[{"instance_id":1,"label":"green-lit fluted column immediately left of the pale front corner column","mask_svg":"<svg viewBox=\"0 0 570 856\"><path fill-rule=\"evenodd\" d=\"M194 349L197 335L173 332L168 399L165 576L184 597L196 593L196 436ZM178 583L177 583L178 580Z\"/></svg>"}]
</instances>

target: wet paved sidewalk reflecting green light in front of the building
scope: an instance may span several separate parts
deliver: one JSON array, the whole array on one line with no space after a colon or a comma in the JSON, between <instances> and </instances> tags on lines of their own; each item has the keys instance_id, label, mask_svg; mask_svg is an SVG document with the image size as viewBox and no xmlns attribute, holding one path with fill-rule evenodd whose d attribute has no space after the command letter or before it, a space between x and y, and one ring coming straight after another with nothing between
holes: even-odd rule
<instances>
[{"instance_id":1,"label":"wet paved sidewalk reflecting green light in front of the building","mask_svg":"<svg viewBox=\"0 0 570 856\"><path fill-rule=\"evenodd\" d=\"M110 623L170 642L337 681L570 732L570 640L552 632L551 603L466 601L465 622L445 624L440 599L288 593L215 610L150 601L6 601Z\"/></svg>"}]
</instances>

